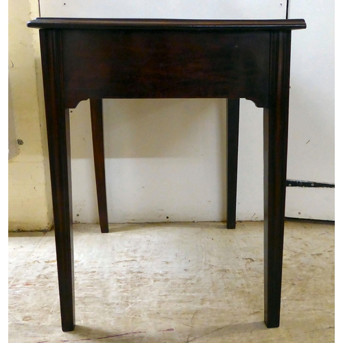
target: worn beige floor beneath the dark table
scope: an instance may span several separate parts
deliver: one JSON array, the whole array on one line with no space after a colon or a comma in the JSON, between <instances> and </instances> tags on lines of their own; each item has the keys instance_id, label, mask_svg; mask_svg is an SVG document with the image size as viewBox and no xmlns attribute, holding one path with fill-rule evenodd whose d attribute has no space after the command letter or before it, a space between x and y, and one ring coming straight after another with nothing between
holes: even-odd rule
<instances>
[{"instance_id":1,"label":"worn beige floor beneath the dark table","mask_svg":"<svg viewBox=\"0 0 343 343\"><path fill-rule=\"evenodd\" d=\"M334 342L334 226L287 222L281 326L263 324L263 223L74 226L76 327L54 232L9 234L9 342Z\"/></svg>"}]
</instances>

